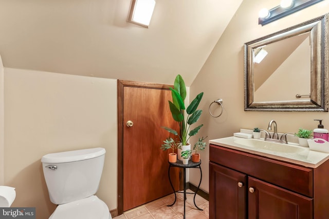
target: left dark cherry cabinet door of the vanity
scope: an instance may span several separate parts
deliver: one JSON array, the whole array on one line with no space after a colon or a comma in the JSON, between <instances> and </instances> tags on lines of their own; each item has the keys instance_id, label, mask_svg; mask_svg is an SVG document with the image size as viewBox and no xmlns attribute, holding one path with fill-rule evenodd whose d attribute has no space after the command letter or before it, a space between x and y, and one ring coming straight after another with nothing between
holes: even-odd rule
<instances>
[{"instance_id":1,"label":"left dark cherry cabinet door of the vanity","mask_svg":"<svg viewBox=\"0 0 329 219\"><path fill-rule=\"evenodd\" d=\"M245 219L246 182L243 173L209 163L209 218Z\"/></svg>"}]
</instances>

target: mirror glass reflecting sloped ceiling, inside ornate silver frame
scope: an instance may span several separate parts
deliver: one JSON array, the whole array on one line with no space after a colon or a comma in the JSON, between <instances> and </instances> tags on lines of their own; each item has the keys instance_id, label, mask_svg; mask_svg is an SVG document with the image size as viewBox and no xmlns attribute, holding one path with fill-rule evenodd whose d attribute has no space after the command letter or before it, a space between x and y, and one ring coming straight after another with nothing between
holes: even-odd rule
<instances>
[{"instance_id":1,"label":"mirror glass reflecting sloped ceiling, inside ornate silver frame","mask_svg":"<svg viewBox=\"0 0 329 219\"><path fill-rule=\"evenodd\" d=\"M260 51L256 53L257 50ZM255 102L295 101L296 94L310 92L309 32L255 48L253 51L255 54L253 100ZM263 54L267 55L257 63L258 60L255 57L261 57L262 51L266 51ZM298 65L294 65L295 63ZM278 85L280 89L277 89Z\"/></svg>"}]
</instances>

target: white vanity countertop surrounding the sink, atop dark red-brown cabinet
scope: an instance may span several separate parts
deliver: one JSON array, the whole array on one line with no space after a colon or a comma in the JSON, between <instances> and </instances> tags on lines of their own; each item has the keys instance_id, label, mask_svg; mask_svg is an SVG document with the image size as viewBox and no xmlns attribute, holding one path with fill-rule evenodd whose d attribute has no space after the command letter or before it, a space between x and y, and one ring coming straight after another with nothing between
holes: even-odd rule
<instances>
[{"instance_id":1,"label":"white vanity countertop surrounding the sink, atop dark red-brown cabinet","mask_svg":"<svg viewBox=\"0 0 329 219\"><path fill-rule=\"evenodd\" d=\"M258 154L261 156L274 158L276 160L286 161L286 162L302 165L305 167L312 167L312 168L316 168L320 166L322 163L324 163L326 160L329 159L329 153L309 150L308 147L301 147L297 144L289 144L289 145L291 147L302 148L303 150L301 152L284 153L284 152L248 147L234 142L235 140L239 140L239 139L242 138L231 136L231 137L224 137L215 140L210 140L209 143L213 145L220 145L223 147L245 151L252 154Z\"/></svg>"}]
</instances>

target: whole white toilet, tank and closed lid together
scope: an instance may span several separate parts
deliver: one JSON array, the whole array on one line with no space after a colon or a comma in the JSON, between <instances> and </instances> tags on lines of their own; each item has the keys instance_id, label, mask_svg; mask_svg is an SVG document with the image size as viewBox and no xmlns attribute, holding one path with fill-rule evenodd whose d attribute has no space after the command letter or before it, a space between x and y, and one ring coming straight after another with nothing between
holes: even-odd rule
<instances>
[{"instance_id":1,"label":"whole white toilet, tank and closed lid together","mask_svg":"<svg viewBox=\"0 0 329 219\"><path fill-rule=\"evenodd\" d=\"M95 195L104 157L104 148L89 148L41 158L50 201L58 205L49 219L112 218L106 204Z\"/></svg>"}]
</instances>

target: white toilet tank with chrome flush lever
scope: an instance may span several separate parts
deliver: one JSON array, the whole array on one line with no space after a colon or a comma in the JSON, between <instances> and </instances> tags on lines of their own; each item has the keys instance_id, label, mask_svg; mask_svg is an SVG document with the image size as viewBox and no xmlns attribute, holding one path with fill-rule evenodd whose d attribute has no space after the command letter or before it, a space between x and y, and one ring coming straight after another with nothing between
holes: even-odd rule
<instances>
[{"instance_id":1,"label":"white toilet tank with chrome flush lever","mask_svg":"<svg viewBox=\"0 0 329 219\"><path fill-rule=\"evenodd\" d=\"M94 195L104 166L104 148L46 154L41 158L50 201L65 204Z\"/></svg>"}]
</instances>

